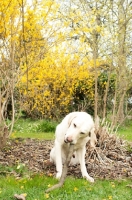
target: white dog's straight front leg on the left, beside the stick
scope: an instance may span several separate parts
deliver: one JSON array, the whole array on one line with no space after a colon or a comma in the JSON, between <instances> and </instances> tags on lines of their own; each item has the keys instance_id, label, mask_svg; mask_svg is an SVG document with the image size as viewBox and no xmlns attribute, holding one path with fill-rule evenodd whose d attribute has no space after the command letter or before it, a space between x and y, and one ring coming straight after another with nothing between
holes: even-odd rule
<instances>
[{"instance_id":1,"label":"white dog's straight front leg on the left, beside the stick","mask_svg":"<svg viewBox=\"0 0 132 200\"><path fill-rule=\"evenodd\" d=\"M60 179L62 174L62 146L58 141L55 142L55 154L56 154L56 178Z\"/></svg>"}]
</instances>

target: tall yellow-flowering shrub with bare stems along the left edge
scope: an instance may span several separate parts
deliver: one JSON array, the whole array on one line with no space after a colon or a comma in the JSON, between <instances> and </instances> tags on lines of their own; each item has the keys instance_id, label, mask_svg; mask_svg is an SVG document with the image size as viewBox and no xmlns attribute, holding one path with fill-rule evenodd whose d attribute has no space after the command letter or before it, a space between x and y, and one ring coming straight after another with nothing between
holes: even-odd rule
<instances>
[{"instance_id":1,"label":"tall yellow-flowering shrub with bare stems along the left edge","mask_svg":"<svg viewBox=\"0 0 132 200\"><path fill-rule=\"evenodd\" d=\"M58 38L52 41L58 30L52 27L58 17L55 17L57 9L58 5L51 0L36 1L32 6L24 0L0 2L0 137L3 143L13 129L16 112L14 98L21 77L27 75L25 84L28 91L29 69L35 67L57 43Z\"/></svg>"}]
</instances>

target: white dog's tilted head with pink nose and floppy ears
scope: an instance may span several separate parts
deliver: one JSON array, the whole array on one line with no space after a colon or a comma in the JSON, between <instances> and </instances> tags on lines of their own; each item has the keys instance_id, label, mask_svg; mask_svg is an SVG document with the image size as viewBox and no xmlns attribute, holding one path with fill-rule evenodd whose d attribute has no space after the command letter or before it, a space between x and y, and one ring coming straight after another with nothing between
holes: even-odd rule
<instances>
[{"instance_id":1,"label":"white dog's tilted head with pink nose and floppy ears","mask_svg":"<svg viewBox=\"0 0 132 200\"><path fill-rule=\"evenodd\" d=\"M73 112L68 118L68 129L64 141L76 144L79 139L89 137L91 145L94 146L96 136L94 134L94 122L92 117L85 112Z\"/></svg>"}]
</instances>

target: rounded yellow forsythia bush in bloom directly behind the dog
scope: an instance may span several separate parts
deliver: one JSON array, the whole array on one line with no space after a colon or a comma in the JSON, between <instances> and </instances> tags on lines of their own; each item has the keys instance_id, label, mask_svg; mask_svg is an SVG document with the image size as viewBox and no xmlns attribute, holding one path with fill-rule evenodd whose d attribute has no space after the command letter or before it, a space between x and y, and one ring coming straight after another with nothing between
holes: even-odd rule
<instances>
[{"instance_id":1,"label":"rounded yellow forsythia bush in bloom directly behind the dog","mask_svg":"<svg viewBox=\"0 0 132 200\"><path fill-rule=\"evenodd\" d=\"M47 55L25 74L20 83L21 107L28 115L39 118L60 118L81 109L82 102L91 104L94 80L88 63L79 65L77 57L55 59ZM90 102L90 103L89 103Z\"/></svg>"}]
</instances>

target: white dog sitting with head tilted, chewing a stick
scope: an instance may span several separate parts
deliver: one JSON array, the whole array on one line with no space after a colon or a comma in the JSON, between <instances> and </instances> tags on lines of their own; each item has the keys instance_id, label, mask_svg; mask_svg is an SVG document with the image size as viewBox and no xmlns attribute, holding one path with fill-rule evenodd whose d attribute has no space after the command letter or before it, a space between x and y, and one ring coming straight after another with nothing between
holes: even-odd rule
<instances>
[{"instance_id":1,"label":"white dog sitting with head tilted, chewing a stick","mask_svg":"<svg viewBox=\"0 0 132 200\"><path fill-rule=\"evenodd\" d=\"M91 146L95 147L94 122L86 112L72 112L56 127L55 144L50 152L50 161L56 165L57 179L60 179L62 175L66 152L68 152L69 145L72 144L74 145L74 156L70 165L80 163L82 176L88 181L94 182L94 179L88 175L85 166L86 143L89 140Z\"/></svg>"}]
</instances>

